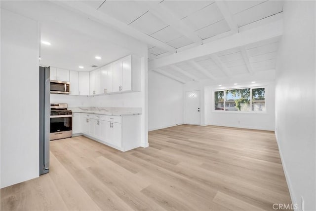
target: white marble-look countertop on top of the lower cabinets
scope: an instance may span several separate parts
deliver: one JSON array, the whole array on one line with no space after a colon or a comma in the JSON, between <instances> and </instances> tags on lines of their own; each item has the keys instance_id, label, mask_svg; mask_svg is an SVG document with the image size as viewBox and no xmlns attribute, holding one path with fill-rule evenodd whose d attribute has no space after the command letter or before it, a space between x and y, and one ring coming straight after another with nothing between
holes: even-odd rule
<instances>
[{"instance_id":1,"label":"white marble-look countertop on top of the lower cabinets","mask_svg":"<svg viewBox=\"0 0 316 211\"><path fill-rule=\"evenodd\" d=\"M68 107L73 113L94 113L111 116L130 116L142 114L141 107Z\"/></svg>"}]
</instances>

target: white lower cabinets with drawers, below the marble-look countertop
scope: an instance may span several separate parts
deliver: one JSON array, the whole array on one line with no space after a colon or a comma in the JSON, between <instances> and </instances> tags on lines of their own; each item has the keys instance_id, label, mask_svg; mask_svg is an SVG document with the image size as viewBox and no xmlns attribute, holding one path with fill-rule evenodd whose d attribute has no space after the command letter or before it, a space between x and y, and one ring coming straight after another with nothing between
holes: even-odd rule
<instances>
[{"instance_id":1,"label":"white lower cabinets with drawers, below the marble-look countertop","mask_svg":"<svg viewBox=\"0 0 316 211\"><path fill-rule=\"evenodd\" d=\"M102 114L81 113L81 131L85 136L127 151L140 146L140 116L111 116ZM73 119L73 125L78 124ZM77 131L78 132L78 131Z\"/></svg>"}]
</instances>

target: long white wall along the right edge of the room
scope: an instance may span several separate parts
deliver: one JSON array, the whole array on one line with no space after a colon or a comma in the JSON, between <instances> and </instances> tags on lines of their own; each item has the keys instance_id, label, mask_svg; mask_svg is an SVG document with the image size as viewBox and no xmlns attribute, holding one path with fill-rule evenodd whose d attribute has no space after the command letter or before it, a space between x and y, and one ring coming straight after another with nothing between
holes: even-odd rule
<instances>
[{"instance_id":1,"label":"long white wall along the right edge of the room","mask_svg":"<svg viewBox=\"0 0 316 211\"><path fill-rule=\"evenodd\" d=\"M276 68L276 138L292 203L316 210L315 1L284 1Z\"/></svg>"}]
</instances>

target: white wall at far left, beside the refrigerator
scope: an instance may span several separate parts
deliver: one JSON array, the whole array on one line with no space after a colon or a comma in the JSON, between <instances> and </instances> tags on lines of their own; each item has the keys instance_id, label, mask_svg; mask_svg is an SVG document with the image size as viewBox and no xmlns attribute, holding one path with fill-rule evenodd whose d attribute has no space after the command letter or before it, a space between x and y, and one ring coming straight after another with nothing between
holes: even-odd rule
<instances>
[{"instance_id":1,"label":"white wall at far left, beside the refrigerator","mask_svg":"<svg viewBox=\"0 0 316 211\"><path fill-rule=\"evenodd\" d=\"M1 9L1 187L39 176L39 31Z\"/></svg>"}]
</instances>

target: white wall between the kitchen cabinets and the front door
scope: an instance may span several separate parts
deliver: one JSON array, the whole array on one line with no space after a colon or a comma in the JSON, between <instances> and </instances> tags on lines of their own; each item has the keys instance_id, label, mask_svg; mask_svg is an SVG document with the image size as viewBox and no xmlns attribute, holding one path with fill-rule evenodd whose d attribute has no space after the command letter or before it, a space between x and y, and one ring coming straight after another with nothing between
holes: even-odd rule
<instances>
[{"instance_id":1,"label":"white wall between the kitchen cabinets and the front door","mask_svg":"<svg viewBox=\"0 0 316 211\"><path fill-rule=\"evenodd\" d=\"M149 131L184 123L183 84L148 72Z\"/></svg>"}]
</instances>

